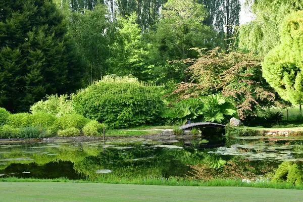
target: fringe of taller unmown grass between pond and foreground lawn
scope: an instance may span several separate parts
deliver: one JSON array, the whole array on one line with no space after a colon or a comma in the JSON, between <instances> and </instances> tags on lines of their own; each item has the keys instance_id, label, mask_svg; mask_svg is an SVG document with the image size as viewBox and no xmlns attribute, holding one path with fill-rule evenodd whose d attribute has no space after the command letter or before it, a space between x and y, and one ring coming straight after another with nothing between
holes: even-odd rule
<instances>
[{"instance_id":1,"label":"fringe of taller unmown grass between pond and foreground lawn","mask_svg":"<svg viewBox=\"0 0 303 202\"><path fill-rule=\"evenodd\" d=\"M57 179L35 179L35 178L0 178L0 182L73 182L73 183L102 183L102 184L137 184L137 185L157 185L157 186L221 186L221 187L255 187L255 188L275 188L275 189L299 189L303 190L303 185L293 185L289 183L277 182L242 182L241 180L215 179L209 181L202 180L182 180L177 178L104 178L98 180L69 180Z\"/></svg>"}]
</instances>

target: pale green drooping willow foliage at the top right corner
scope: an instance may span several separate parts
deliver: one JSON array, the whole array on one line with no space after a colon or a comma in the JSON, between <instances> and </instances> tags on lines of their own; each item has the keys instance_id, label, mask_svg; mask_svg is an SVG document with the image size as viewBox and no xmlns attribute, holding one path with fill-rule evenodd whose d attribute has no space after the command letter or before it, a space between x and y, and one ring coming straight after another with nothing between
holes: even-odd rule
<instances>
[{"instance_id":1,"label":"pale green drooping willow foliage at the top right corner","mask_svg":"<svg viewBox=\"0 0 303 202\"><path fill-rule=\"evenodd\" d=\"M287 14L302 10L300 0L246 0L255 19L239 28L239 47L266 55L279 43L279 29Z\"/></svg>"}]
</instances>

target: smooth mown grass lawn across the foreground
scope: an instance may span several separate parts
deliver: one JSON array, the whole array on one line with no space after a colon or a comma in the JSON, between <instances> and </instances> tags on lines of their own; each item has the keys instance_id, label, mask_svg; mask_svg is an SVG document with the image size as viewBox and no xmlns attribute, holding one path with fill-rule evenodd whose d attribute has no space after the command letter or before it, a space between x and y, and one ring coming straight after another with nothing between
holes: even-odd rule
<instances>
[{"instance_id":1,"label":"smooth mown grass lawn across the foreground","mask_svg":"<svg viewBox=\"0 0 303 202\"><path fill-rule=\"evenodd\" d=\"M302 190L127 184L0 182L1 201L302 201Z\"/></svg>"}]
</instances>

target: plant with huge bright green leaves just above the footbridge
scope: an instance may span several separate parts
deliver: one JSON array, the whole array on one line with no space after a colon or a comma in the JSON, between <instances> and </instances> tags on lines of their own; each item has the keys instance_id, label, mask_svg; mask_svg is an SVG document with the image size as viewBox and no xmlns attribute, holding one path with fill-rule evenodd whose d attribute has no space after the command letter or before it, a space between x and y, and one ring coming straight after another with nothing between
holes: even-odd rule
<instances>
[{"instance_id":1,"label":"plant with huge bright green leaves just above the footbridge","mask_svg":"<svg viewBox=\"0 0 303 202\"><path fill-rule=\"evenodd\" d=\"M210 122L222 123L228 116L236 114L233 105L225 101L220 94L208 95L205 98L204 119Z\"/></svg>"}]
</instances>

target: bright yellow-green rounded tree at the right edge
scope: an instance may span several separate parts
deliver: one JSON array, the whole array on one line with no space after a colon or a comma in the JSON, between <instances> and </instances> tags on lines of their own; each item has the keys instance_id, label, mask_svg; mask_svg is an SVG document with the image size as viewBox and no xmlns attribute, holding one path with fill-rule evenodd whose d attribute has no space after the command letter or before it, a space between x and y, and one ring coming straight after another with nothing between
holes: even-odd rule
<instances>
[{"instance_id":1,"label":"bright yellow-green rounded tree at the right edge","mask_svg":"<svg viewBox=\"0 0 303 202\"><path fill-rule=\"evenodd\" d=\"M285 100L303 104L303 11L289 15L281 27L281 43L262 64L266 81Z\"/></svg>"}]
</instances>

